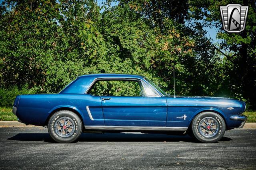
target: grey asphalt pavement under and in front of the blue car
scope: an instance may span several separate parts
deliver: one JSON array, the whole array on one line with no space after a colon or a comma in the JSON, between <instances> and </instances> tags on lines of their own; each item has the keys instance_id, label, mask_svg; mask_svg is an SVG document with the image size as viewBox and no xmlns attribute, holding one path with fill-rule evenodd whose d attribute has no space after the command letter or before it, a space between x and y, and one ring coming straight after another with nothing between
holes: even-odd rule
<instances>
[{"instance_id":1,"label":"grey asphalt pavement under and in front of the blue car","mask_svg":"<svg viewBox=\"0 0 256 170\"><path fill-rule=\"evenodd\" d=\"M82 134L58 144L43 127L0 128L0 169L255 170L256 129L227 131L214 144L140 133Z\"/></svg>"}]
</instances>

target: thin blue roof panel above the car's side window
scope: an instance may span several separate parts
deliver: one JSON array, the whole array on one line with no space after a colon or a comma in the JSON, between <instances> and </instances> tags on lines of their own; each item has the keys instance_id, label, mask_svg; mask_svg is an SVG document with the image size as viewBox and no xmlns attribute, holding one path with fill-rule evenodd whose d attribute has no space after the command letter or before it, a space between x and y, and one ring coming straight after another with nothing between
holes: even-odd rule
<instances>
[{"instance_id":1,"label":"thin blue roof panel above the car's side window","mask_svg":"<svg viewBox=\"0 0 256 170\"><path fill-rule=\"evenodd\" d=\"M106 77L106 78L144 78L142 75L136 74L109 74L109 73L101 73L101 74L85 74L80 77Z\"/></svg>"}]
</instances>

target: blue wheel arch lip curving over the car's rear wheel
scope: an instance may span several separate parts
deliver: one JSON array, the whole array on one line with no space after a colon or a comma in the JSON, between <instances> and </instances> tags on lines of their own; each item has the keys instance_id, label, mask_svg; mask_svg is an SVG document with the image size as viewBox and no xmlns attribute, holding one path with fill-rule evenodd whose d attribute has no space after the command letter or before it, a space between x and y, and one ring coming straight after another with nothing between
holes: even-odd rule
<instances>
[{"instance_id":1,"label":"blue wheel arch lip curving over the car's rear wheel","mask_svg":"<svg viewBox=\"0 0 256 170\"><path fill-rule=\"evenodd\" d=\"M48 117L47 117L47 119L46 119L44 125L47 126L47 124L48 124L48 122L49 122L49 120L50 120L50 117L51 117L54 113L56 113L56 112L58 112L58 111L60 111L60 110L69 110L69 111L71 111L71 112L74 112L74 113L80 118L80 120L81 120L81 122L82 122L82 125L83 125L82 127L83 127L83 129L84 129L84 118L83 118L81 112L80 112L77 108L75 108L75 107L66 106L66 105L65 105L65 106L57 106L57 107L53 108L52 110L50 110L50 111L48 112L49 115L48 115Z\"/></svg>"}]
</instances>

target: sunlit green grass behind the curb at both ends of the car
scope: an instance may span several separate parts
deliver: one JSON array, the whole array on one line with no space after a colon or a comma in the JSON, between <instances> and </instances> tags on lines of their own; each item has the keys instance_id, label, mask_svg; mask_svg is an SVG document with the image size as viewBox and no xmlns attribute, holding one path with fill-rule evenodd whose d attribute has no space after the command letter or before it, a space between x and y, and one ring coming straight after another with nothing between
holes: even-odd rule
<instances>
[{"instance_id":1,"label":"sunlit green grass behind the curb at both ends of the car","mask_svg":"<svg viewBox=\"0 0 256 170\"><path fill-rule=\"evenodd\" d=\"M256 122L255 112L244 112L248 116L246 122ZM12 113L12 108L0 107L0 121L17 121L17 117Z\"/></svg>"}]
</instances>

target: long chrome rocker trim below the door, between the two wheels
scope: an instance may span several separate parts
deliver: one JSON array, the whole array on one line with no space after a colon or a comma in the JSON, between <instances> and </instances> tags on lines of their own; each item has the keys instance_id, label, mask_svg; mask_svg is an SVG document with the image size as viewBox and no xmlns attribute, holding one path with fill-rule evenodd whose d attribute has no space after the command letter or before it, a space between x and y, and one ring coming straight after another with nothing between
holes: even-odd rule
<instances>
[{"instance_id":1,"label":"long chrome rocker trim below the door, between the two wheels","mask_svg":"<svg viewBox=\"0 0 256 170\"><path fill-rule=\"evenodd\" d=\"M85 129L94 130L164 130L164 131L185 131L184 127L159 127L159 126L84 126Z\"/></svg>"}]
</instances>

